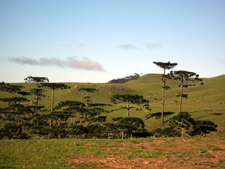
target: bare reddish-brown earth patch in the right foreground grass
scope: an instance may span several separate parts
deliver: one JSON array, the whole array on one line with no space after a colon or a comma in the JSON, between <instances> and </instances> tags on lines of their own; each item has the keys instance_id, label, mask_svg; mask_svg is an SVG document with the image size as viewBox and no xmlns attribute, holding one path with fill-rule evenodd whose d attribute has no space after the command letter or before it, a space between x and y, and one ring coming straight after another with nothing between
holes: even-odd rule
<instances>
[{"instance_id":1,"label":"bare reddish-brown earth patch in the right foreground grass","mask_svg":"<svg viewBox=\"0 0 225 169\"><path fill-rule=\"evenodd\" d=\"M201 141L189 140L153 140L151 142L120 142L115 151L121 154L102 156L76 155L65 159L70 168L157 168L157 169L190 169L190 168L225 168L225 140ZM97 148L97 147L96 147ZM110 147L112 148L112 147ZM158 152L151 158L129 156L128 149L143 152ZM107 149L107 147L101 147ZM79 165L78 165L79 164Z\"/></svg>"}]
</instances>

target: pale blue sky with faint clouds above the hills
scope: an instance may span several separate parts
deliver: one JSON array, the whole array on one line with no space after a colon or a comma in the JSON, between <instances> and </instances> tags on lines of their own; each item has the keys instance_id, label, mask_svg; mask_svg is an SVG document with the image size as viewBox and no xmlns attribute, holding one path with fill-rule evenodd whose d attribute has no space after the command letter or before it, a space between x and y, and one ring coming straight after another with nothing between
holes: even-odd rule
<instances>
[{"instance_id":1,"label":"pale blue sky with faint clouds above the hills","mask_svg":"<svg viewBox=\"0 0 225 169\"><path fill-rule=\"evenodd\" d=\"M106 83L154 61L225 74L225 1L0 0L0 81Z\"/></svg>"}]
</instances>

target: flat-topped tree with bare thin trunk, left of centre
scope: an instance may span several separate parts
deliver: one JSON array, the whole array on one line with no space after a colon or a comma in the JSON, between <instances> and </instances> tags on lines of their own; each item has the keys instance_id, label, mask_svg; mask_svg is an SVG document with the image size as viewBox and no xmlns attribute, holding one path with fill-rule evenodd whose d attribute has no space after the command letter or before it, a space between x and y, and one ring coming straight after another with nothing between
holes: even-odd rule
<instances>
[{"instance_id":1,"label":"flat-topped tree with bare thin trunk, left of centre","mask_svg":"<svg viewBox=\"0 0 225 169\"><path fill-rule=\"evenodd\" d=\"M41 86L52 89L51 112L53 111L53 107L54 107L54 92L55 92L55 90L57 90L57 89L63 90L63 89L70 88L69 86L67 86L66 84L63 84L63 83L42 83Z\"/></svg>"}]
</instances>

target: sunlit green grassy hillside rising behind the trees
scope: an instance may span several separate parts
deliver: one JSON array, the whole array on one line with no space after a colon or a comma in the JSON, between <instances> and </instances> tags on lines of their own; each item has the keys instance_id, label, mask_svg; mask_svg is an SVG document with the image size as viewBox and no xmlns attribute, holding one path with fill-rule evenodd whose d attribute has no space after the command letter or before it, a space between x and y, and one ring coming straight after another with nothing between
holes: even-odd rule
<instances>
[{"instance_id":1,"label":"sunlit green grassy hillside rising behind the trees","mask_svg":"<svg viewBox=\"0 0 225 169\"><path fill-rule=\"evenodd\" d=\"M204 85L198 83L196 86L189 86L184 89L188 94L188 99L183 99L182 111L191 113L192 117L199 120L211 120L220 124L225 120L225 75L214 78L205 78ZM24 86L24 91L35 88L36 84L21 83L17 85ZM137 110L135 107L130 109L130 116L140 117L144 120L146 128L152 130L160 124L158 114L161 112L162 82L160 74L147 74L137 80L129 81L123 84L106 83L67 83L70 89L56 90L55 105L60 101L74 100L84 101L85 92L79 91L82 87L96 88L98 92L91 93L93 104L102 105L109 111L107 120L111 121L113 117L126 116L125 104L113 105L110 97L114 94L139 94L150 101L149 110ZM171 87L166 91L165 102L165 120L178 113L179 99L179 81L167 80L167 85ZM50 110L51 90L45 89L47 97L41 100L47 112ZM12 97L11 94L0 92L1 97ZM28 96L31 99L33 96ZM29 104L29 103L26 103ZM0 103L0 106L4 106ZM151 118L146 118L151 117Z\"/></svg>"}]
</instances>

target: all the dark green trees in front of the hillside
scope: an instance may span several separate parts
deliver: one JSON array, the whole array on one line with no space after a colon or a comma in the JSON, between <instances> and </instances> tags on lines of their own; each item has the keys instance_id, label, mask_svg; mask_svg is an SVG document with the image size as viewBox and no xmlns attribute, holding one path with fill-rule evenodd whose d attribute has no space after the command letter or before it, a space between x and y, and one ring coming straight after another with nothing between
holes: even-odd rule
<instances>
[{"instance_id":1,"label":"all the dark green trees in front of the hillside","mask_svg":"<svg viewBox=\"0 0 225 169\"><path fill-rule=\"evenodd\" d=\"M128 137L147 137L147 136L205 136L211 131L216 131L216 125L211 121L196 121L190 114L181 112L182 98L188 97L183 93L183 88L188 87L185 81L201 81L199 75L188 71L171 71L166 74L166 69L172 69L177 63L154 62L157 66L164 69L162 75L163 99L161 124L164 124L164 104L166 79L180 81L179 114L169 120L169 127L156 129L148 132L142 119L130 117L130 106L135 106L140 110L150 110L149 101L141 95L116 94L111 97L114 104L125 103L126 117L113 118L113 122L108 122L107 111L101 106L92 104L91 93L98 92L95 88L79 88L78 91L85 92L84 102L61 101L54 106L54 95L56 90L64 90L70 86L63 83L49 83L46 77L25 78L27 83L36 83L36 87L29 92L23 91L23 86L0 84L0 91L11 94L11 97L0 98L4 106L0 108L0 139L15 138L128 138ZM135 74L123 80L134 80L140 75ZM115 83L115 82L113 82ZM41 99L45 97L45 89L52 91L51 110L44 110ZM30 96L29 96L30 95ZM32 97L28 100L27 96ZM29 103L30 102L30 103Z\"/></svg>"}]
</instances>

